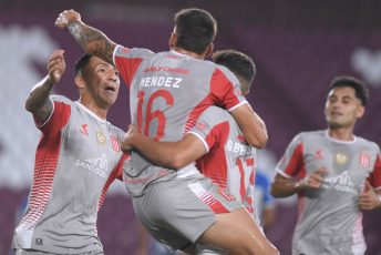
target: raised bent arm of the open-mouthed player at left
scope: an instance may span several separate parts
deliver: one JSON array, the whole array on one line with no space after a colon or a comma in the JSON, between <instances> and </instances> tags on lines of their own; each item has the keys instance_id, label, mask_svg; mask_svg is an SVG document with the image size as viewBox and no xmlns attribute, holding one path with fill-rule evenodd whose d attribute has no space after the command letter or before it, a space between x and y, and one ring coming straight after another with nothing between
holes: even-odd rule
<instances>
[{"instance_id":1,"label":"raised bent arm of the open-mouthed player at left","mask_svg":"<svg viewBox=\"0 0 381 255\"><path fill-rule=\"evenodd\" d=\"M41 122L44 122L53 111L53 102L49 96L65 71L63 53L63 50L52 53L48 62L48 75L33 86L25 102L27 111Z\"/></svg>"}]
</instances>

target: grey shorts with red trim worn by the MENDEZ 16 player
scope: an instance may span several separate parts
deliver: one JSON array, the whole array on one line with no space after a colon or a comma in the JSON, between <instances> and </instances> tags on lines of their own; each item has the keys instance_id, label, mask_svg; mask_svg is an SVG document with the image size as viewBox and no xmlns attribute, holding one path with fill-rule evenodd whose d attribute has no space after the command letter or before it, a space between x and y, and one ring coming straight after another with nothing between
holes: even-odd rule
<instances>
[{"instance_id":1,"label":"grey shorts with red trim worn by the MENDEZ 16 player","mask_svg":"<svg viewBox=\"0 0 381 255\"><path fill-rule=\"evenodd\" d=\"M195 243L216 222L216 214L244 207L200 173L153 183L132 202L140 222L168 252Z\"/></svg>"}]
</instances>

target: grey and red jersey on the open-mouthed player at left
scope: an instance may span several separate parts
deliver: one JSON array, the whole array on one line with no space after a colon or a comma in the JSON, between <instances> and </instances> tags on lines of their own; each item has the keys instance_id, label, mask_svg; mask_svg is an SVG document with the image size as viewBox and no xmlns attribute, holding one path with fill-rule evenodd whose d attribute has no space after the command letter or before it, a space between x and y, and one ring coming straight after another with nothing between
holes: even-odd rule
<instances>
[{"instance_id":1,"label":"grey and red jersey on the open-mouthed player at left","mask_svg":"<svg viewBox=\"0 0 381 255\"><path fill-rule=\"evenodd\" d=\"M56 254L102 251L96 216L110 184L122 178L124 132L79 102L52 95L54 110L37 147L28 206L13 248Z\"/></svg>"}]
</instances>

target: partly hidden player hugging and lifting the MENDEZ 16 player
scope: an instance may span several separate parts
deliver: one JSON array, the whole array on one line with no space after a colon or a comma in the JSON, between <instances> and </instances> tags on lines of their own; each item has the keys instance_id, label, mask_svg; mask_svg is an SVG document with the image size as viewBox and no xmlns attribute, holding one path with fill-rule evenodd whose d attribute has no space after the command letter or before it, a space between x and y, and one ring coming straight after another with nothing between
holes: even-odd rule
<instances>
[{"instance_id":1,"label":"partly hidden player hugging and lifting the MENDEZ 16 player","mask_svg":"<svg viewBox=\"0 0 381 255\"><path fill-rule=\"evenodd\" d=\"M243 94L248 94L256 74L253 60L234 50L217 51L213 59L215 63L231 70L241 84ZM209 106L200 114L195 126L176 143L155 142L131 125L122 141L122 151L132 147L154 163L172 169L182 169L198 159L197 169L237 197L260 227L254 204L256 150L245 142L237 123L226 110ZM269 243L268 247L271 247ZM203 251L202 254L206 251L224 254L200 243L197 244L197 251Z\"/></svg>"}]
</instances>

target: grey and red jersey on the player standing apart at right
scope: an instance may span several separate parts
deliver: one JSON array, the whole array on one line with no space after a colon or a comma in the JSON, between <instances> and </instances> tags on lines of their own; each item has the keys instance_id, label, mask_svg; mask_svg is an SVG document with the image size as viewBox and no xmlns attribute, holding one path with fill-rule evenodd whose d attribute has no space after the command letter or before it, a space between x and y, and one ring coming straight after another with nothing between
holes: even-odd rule
<instances>
[{"instance_id":1,"label":"grey and red jersey on the player standing apart at right","mask_svg":"<svg viewBox=\"0 0 381 255\"><path fill-rule=\"evenodd\" d=\"M380 147L354 136L346 142L328 131L302 132L286 150L276 171L285 177L303 178L326 166L320 188L298 194L298 224L292 254L363 254L362 212L358 195L365 182L381 188Z\"/></svg>"}]
</instances>

